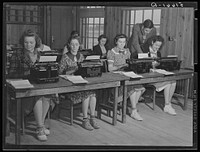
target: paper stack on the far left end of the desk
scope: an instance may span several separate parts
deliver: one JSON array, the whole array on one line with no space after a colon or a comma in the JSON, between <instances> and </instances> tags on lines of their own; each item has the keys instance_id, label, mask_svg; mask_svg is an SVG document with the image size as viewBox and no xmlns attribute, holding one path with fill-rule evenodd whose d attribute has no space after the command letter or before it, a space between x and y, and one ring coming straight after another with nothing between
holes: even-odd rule
<instances>
[{"instance_id":1,"label":"paper stack on the far left end of the desk","mask_svg":"<svg viewBox=\"0 0 200 152\"><path fill-rule=\"evenodd\" d=\"M33 88L34 86L29 82L29 80L6 80L15 89L27 89Z\"/></svg>"}]
</instances>

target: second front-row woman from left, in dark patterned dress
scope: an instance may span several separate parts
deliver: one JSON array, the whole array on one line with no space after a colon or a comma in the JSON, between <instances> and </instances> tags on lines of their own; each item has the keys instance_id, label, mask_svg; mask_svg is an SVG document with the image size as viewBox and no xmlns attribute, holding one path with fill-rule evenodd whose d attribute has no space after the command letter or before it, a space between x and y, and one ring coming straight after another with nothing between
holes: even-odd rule
<instances>
[{"instance_id":1,"label":"second front-row woman from left, in dark patterned dress","mask_svg":"<svg viewBox=\"0 0 200 152\"><path fill-rule=\"evenodd\" d=\"M60 65L59 74L74 74L78 69L78 62L84 60L84 56L79 53L80 39L72 36L68 40L68 52L63 54ZM83 127L87 130L99 129L99 125L95 120L96 93L94 91L81 91L66 94L66 98L74 103L82 102ZM88 119L88 109L90 107L90 120Z\"/></svg>"}]
</instances>

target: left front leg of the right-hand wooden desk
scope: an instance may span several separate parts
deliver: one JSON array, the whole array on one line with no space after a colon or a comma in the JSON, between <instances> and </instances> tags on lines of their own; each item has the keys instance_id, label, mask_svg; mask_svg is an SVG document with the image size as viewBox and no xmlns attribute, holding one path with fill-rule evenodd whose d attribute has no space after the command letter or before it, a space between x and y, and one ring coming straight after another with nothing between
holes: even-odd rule
<instances>
[{"instance_id":1,"label":"left front leg of the right-hand wooden desk","mask_svg":"<svg viewBox=\"0 0 200 152\"><path fill-rule=\"evenodd\" d=\"M126 123L127 86L123 83L122 123Z\"/></svg>"}]
</instances>

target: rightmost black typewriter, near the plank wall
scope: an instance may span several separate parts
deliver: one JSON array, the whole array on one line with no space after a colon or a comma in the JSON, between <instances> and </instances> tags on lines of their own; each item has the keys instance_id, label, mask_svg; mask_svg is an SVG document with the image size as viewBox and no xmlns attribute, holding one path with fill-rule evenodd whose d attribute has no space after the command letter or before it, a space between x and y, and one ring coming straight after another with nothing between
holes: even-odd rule
<instances>
[{"instance_id":1,"label":"rightmost black typewriter, near the plank wall","mask_svg":"<svg viewBox=\"0 0 200 152\"><path fill-rule=\"evenodd\" d=\"M181 62L177 57L161 57L157 59L160 63L157 69L164 69L166 71L180 70Z\"/></svg>"}]
</instances>

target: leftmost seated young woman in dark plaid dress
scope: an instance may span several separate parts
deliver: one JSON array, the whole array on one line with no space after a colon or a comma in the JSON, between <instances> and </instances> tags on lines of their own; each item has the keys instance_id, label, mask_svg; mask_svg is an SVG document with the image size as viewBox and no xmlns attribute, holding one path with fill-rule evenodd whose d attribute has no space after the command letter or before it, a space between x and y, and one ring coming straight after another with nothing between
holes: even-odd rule
<instances>
[{"instance_id":1,"label":"leftmost seated young woman in dark plaid dress","mask_svg":"<svg viewBox=\"0 0 200 152\"><path fill-rule=\"evenodd\" d=\"M40 53L38 52L40 38L32 30L27 30L20 38L20 44L23 46L23 49L13 56L16 61L11 63L10 74L14 75L15 78L28 78L30 68L40 58ZM55 99L55 95L45 95L23 98L22 100L26 114L29 114L32 110L34 112L37 125L36 134L40 141L46 141L47 135L50 134L50 130L45 127L45 118L50 104L55 106L57 101Z\"/></svg>"}]
</instances>

